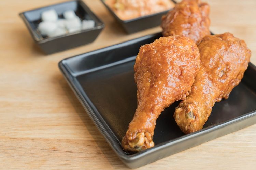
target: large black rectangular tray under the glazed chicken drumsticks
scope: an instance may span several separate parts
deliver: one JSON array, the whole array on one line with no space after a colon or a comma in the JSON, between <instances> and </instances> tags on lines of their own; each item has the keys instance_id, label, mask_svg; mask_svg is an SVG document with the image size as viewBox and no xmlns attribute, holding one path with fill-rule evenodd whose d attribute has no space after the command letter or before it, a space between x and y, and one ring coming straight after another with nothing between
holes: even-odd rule
<instances>
[{"instance_id":1,"label":"large black rectangular tray under the glazed chicken drumsticks","mask_svg":"<svg viewBox=\"0 0 256 170\"><path fill-rule=\"evenodd\" d=\"M175 102L157 119L155 146L135 154L123 151L125 135L137 107L133 65L141 45L161 33L67 58L59 68L90 118L119 158L130 168L200 145L256 123L256 67L250 63L227 100L215 103L204 128L183 134L172 117Z\"/></svg>"}]
</instances>

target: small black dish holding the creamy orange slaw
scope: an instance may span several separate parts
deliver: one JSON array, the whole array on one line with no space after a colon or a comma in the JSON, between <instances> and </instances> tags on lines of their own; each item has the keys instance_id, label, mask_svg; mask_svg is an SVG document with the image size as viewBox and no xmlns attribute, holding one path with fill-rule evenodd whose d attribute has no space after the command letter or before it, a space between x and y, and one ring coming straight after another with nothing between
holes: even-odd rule
<instances>
[{"instance_id":1,"label":"small black dish holding the creamy orange slaw","mask_svg":"<svg viewBox=\"0 0 256 170\"><path fill-rule=\"evenodd\" d=\"M176 4L174 0L170 0ZM134 33L138 32L141 30L145 30L148 28L156 27L161 24L161 18L163 15L167 14L169 10L162 11L159 13L151 14L151 15L146 15L130 20L122 20L120 19L115 12L105 3L105 0L101 0L101 2L108 8L110 13L115 17L117 22L124 28L124 30L128 33Z\"/></svg>"}]
</instances>

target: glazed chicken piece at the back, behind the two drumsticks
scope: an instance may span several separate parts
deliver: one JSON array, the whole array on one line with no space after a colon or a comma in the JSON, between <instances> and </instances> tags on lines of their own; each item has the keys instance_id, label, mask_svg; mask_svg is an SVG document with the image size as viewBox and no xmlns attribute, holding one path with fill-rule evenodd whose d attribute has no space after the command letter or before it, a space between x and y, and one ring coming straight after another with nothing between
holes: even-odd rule
<instances>
[{"instance_id":1,"label":"glazed chicken piece at the back, behind the two drumsticks","mask_svg":"<svg viewBox=\"0 0 256 170\"><path fill-rule=\"evenodd\" d=\"M210 7L199 0L183 0L162 17L163 36L184 35L196 43L210 35Z\"/></svg>"}]
</instances>

